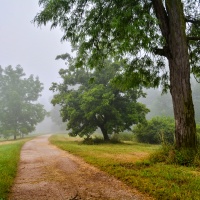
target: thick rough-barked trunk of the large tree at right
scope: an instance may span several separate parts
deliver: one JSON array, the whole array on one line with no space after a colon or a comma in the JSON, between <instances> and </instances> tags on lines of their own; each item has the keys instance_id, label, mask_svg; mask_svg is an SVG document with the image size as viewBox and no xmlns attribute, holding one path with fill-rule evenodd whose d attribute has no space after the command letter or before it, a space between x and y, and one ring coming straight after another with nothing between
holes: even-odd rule
<instances>
[{"instance_id":1,"label":"thick rough-barked trunk of the large tree at right","mask_svg":"<svg viewBox=\"0 0 200 200\"><path fill-rule=\"evenodd\" d=\"M190 85L190 64L183 4L181 0L166 0L167 18L164 19L159 17L162 15L159 14L160 11L156 5L158 2L161 4L162 0L153 2L160 24L165 24L165 26L160 25L160 28L161 30L166 29L162 30L162 33L165 33L163 36L168 48L166 57L170 69L170 92L174 107L176 147L178 149L196 149L196 123Z\"/></svg>"}]
</instances>

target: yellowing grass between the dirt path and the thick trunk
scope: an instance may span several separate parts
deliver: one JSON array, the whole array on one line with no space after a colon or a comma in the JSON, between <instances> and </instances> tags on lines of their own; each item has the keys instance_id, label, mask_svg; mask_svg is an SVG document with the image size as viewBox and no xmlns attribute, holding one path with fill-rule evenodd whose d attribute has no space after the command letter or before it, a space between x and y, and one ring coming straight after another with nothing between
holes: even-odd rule
<instances>
[{"instance_id":1,"label":"yellowing grass between the dirt path and the thick trunk","mask_svg":"<svg viewBox=\"0 0 200 200\"><path fill-rule=\"evenodd\" d=\"M53 135L50 141L156 199L200 198L198 169L148 160L148 155L159 146L139 143L84 145L64 135Z\"/></svg>"}]
</instances>

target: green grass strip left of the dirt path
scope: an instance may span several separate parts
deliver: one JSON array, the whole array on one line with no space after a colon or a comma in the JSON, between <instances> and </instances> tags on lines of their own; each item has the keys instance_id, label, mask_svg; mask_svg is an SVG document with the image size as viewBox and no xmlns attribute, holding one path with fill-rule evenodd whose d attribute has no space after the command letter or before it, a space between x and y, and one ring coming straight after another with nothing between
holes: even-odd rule
<instances>
[{"instance_id":1,"label":"green grass strip left of the dirt path","mask_svg":"<svg viewBox=\"0 0 200 200\"><path fill-rule=\"evenodd\" d=\"M0 145L0 200L7 199L17 172L22 145L28 139L1 142Z\"/></svg>"}]
</instances>

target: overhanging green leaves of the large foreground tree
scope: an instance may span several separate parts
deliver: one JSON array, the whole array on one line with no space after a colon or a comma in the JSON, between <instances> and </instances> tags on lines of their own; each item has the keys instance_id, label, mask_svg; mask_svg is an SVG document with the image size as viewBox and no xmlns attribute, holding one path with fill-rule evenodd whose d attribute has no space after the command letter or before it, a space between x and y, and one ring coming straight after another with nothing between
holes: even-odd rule
<instances>
[{"instance_id":1,"label":"overhanging green leaves of the large foreground tree","mask_svg":"<svg viewBox=\"0 0 200 200\"><path fill-rule=\"evenodd\" d=\"M168 88L169 75L163 58L167 57L165 47L168 38L161 31L156 7L163 8L162 14L167 16L169 3L144 0L39 0L39 4L42 10L34 22L38 25L51 22L52 28L61 27L64 34L62 40L69 40L77 50L76 66L85 64L96 67L97 63L104 66L104 60L109 56L117 60L125 58L127 66L124 66L122 74L125 78L121 77L121 84L125 82L127 87L162 84L165 89ZM187 35L198 38L200 4L196 0L185 0L183 4ZM198 74L199 41L189 40L188 45L191 47L190 64L193 72Z\"/></svg>"}]
</instances>

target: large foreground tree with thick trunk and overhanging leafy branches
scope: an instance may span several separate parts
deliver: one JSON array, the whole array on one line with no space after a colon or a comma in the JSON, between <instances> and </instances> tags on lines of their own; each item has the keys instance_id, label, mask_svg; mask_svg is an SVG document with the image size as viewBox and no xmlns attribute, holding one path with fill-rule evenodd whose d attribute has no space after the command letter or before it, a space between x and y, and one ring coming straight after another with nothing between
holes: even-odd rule
<instances>
[{"instance_id":1,"label":"large foreground tree with thick trunk and overhanging leafy branches","mask_svg":"<svg viewBox=\"0 0 200 200\"><path fill-rule=\"evenodd\" d=\"M38 25L60 26L77 48L76 65L104 65L106 57L127 63L121 83L170 89L177 148L197 147L190 72L200 62L197 0L40 0ZM165 59L168 61L167 70ZM169 73L168 73L169 69ZM161 73L162 70L162 73Z\"/></svg>"}]
</instances>

